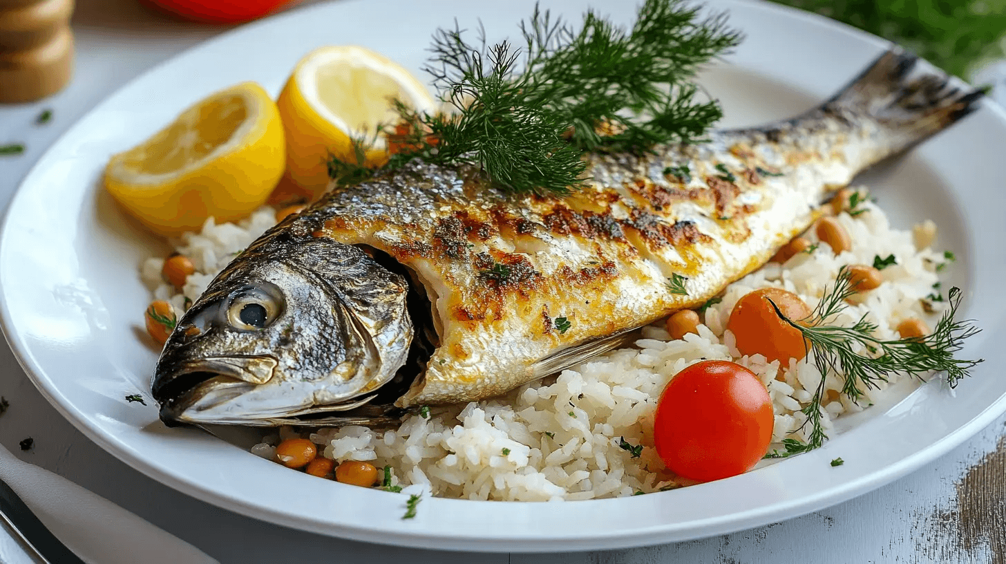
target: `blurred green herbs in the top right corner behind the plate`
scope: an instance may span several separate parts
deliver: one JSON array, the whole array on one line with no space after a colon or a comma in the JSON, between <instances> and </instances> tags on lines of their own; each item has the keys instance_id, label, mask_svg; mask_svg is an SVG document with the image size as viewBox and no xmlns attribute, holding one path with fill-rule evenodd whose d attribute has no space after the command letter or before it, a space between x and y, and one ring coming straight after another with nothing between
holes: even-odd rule
<instances>
[{"instance_id":1,"label":"blurred green herbs in the top right corner behind the plate","mask_svg":"<svg viewBox=\"0 0 1006 564\"><path fill-rule=\"evenodd\" d=\"M879 35L966 80L1006 54L1006 0L773 0Z\"/></svg>"}]
</instances>

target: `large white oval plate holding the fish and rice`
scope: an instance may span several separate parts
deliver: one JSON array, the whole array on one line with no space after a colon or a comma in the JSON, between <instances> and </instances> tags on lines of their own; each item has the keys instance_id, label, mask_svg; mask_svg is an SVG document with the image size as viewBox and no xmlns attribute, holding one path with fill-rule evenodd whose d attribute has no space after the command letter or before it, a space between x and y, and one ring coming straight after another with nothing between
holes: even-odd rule
<instances>
[{"instance_id":1,"label":"large white oval plate holding the fish and rice","mask_svg":"<svg viewBox=\"0 0 1006 564\"><path fill-rule=\"evenodd\" d=\"M550 0L578 19L586 1ZM627 2L593 0L617 20ZM633 3L635 4L635 2ZM871 36L778 6L715 0L746 40L706 75L727 122L795 115L824 100L885 48ZM105 162L190 103L241 81L276 93L294 62L329 43L357 43L418 68L438 25L481 17L491 36L515 33L532 0L474 3L366 0L319 5L226 33L134 81L80 120L43 156L11 203L2 232L3 329L41 393L88 437L138 470L242 515L308 531L429 548L558 551L694 539L837 504L944 454L1006 410L1003 360L1006 228L1002 151L1006 114L974 116L874 173L881 203L901 227L933 218L959 257L952 282L984 332L964 355L988 363L952 392L920 387L875 406L824 448L746 474L618 500L521 504L424 500L402 521L400 495L323 482L192 429L167 429L147 395L157 351L142 312L137 268L165 246L125 217L100 178ZM80 77L78 80L86 80ZM148 398L146 407L127 394ZM841 456L845 464L831 467Z\"/></svg>"}]
</instances>

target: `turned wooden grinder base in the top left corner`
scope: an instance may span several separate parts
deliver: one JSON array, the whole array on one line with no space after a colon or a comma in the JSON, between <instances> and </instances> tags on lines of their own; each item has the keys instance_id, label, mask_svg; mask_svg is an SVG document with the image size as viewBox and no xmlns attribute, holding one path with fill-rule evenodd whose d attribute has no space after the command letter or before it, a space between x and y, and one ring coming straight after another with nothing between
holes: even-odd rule
<instances>
[{"instance_id":1,"label":"turned wooden grinder base in the top left corner","mask_svg":"<svg viewBox=\"0 0 1006 564\"><path fill-rule=\"evenodd\" d=\"M73 72L73 0L0 0L0 103L53 94Z\"/></svg>"}]
</instances>

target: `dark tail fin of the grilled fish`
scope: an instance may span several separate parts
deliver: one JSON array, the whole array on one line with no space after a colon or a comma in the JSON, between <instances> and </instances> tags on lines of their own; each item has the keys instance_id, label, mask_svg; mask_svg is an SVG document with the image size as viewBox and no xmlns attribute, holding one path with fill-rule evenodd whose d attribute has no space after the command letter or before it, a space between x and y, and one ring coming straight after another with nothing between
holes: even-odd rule
<instances>
[{"instance_id":1,"label":"dark tail fin of the grilled fish","mask_svg":"<svg viewBox=\"0 0 1006 564\"><path fill-rule=\"evenodd\" d=\"M900 47L880 55L821 108L839 118L867 116L900 132L899 152L977 110L984 93Z\"/></svg>"}]
</instances>

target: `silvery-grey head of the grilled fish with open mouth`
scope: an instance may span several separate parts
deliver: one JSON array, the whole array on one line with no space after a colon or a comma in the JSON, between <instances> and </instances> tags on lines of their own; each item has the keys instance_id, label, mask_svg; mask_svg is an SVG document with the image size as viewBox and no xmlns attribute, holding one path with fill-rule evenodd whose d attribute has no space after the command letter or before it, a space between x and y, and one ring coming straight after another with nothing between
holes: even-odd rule
<instances>
[{"instance_id":1,"label":"silvery-grey head of the grilled fish with open mouth","mask_svg":"<svg viewBox=\"0 0 1006 564\"><path fill-rule=\"evenodd\" d=\"M168 337L152 384L161 420L272 426L367 403L406 361L407 289L356 247L260 239Z\"/></svg>"}]
</instances>

